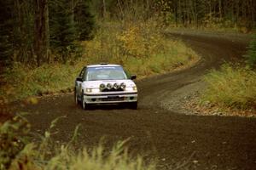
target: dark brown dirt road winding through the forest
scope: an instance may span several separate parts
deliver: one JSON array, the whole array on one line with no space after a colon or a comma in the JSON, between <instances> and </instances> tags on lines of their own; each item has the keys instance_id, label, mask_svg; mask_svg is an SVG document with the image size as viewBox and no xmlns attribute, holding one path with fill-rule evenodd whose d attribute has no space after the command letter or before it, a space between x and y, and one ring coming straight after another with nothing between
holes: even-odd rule
<instances>
[{"instance_id":1,"label":"dark brown dirt road winding through the forest","mask_svg":"<svg viewBox=\"0 0 256 170\"><path fill-rule=\"evenodd\" d=\"M65 116L56 124L55 142L70 140L79 124L79 145L95 146L103 136L106 146L111 147L119 139L130 138L131 153L158 158L159 169L256 169L255 118L177 113L180 96L193 90L186 87L201 82L207 70L218 68L224 60L241 57L247 38L187 33L167 36L183 39L202 59L192 68L138 81L137 111L115 106L83 111L74 104L73 94L44 97L38 105L20 110L31 113L27 118L37 133L44 133L50 122ZM161 107L163 104L171 109Z\"/></svg>"}]
</instances>

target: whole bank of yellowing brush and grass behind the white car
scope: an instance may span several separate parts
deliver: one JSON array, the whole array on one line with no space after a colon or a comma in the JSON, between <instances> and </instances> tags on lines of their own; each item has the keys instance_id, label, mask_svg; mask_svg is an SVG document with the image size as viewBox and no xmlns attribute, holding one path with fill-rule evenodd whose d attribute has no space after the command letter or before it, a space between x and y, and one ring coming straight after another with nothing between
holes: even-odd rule
<instances>
[{"instance_id":1,"label":"whole bank of yellowing brush and grass behind the white car","mask_svg":"<svg viewBox=\"0 0 256 170\"><path fill-rule=\"evenodd\" d=\"M31 95L71 91L75 77L88 64L120 64L142 78L172 71L197 59L192 49L183 42L164 37L160 30L155 20L101 23L94 39L81 42L85 52L79 60L40 67L14 63L1 77L0 95L14 101Z\"/></svg>"}]
</instances>

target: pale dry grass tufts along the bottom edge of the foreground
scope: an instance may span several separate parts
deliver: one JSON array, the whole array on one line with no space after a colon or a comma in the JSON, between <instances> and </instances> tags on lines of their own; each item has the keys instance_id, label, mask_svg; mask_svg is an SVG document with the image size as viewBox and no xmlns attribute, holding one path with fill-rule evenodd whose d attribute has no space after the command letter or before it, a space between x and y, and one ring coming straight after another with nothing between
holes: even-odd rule
<instances>
[{"instance_id":1,"label":"pale dry grass tufts along the bottom edge of the foreground","mask_svg":"<svg viewBox=\"0 0 256 170\"><path fill-rule=\"evenodd\" d=\"M106 150L99 145L94 149L84 148L77 152L67 145L61 145L51 152L51 156L42 156L36 144L27 144L20 154L12 161L10 169L34 170L34 169L84 169L84 170L154 170L155 165L148 165L141 156L131 158L125 149L124 142L118 142L113 149Z\"/></svg>"}]
</instances>

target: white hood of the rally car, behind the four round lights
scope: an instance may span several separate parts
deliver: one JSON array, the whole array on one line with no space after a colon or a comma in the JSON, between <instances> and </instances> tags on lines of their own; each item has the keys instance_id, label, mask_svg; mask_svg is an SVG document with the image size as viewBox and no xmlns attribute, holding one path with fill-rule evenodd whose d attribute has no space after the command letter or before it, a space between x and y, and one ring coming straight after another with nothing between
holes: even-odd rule
<instances>
[{"instance_id":1,"label":"white hood of the rally car, behind the four round lights","mask_svg":"<svg viewBox=\"0 0 256 170\"><path fill-rule=\"evenodd\" d=\"M83 87L84 88L99 88L100 84L104 83L104 84L114 84L114 83L125 83L126 87L134 87L135 83L132 80L101 80L101 81L85 81L83 82Z\"/></svg>"}]
</instances>

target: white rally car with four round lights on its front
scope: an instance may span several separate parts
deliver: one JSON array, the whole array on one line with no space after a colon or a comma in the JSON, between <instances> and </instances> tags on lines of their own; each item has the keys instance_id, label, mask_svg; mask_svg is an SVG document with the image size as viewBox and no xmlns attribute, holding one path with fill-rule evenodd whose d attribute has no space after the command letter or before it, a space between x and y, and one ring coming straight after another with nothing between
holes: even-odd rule
<instances>
[{"instance_id":1,"label":"white rally car with four round lights on its front","mask_svg":"<svg viewBox=\"0 0 256 170\"><path fill-rule=\"evenodd\" d=\"M74 97L86 110L93 104L126 103L137 109L137 86L120 65L87 65L76 78Z\"/></svg>"}]
</instances>

